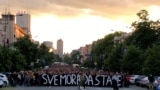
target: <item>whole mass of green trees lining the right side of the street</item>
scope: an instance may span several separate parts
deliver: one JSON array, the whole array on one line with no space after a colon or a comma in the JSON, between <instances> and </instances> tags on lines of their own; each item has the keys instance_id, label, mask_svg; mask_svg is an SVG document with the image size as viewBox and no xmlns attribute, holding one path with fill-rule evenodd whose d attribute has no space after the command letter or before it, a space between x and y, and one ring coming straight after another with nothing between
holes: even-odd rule
<instances>
[{"instance_id":1,"label":"whole mass of green trees lining the right side of the street","mask_svg":"<svg viewBox=\"0 0 160 90\"><path fill-rule=\"evenodd\" d=\"M119 33L106 35L93 43L92 54L98 66L102 62L99 56L104 54L106 70L158 74L159 52L156 50L160 45L160 20L150 20L146 10L140 10L137 16L139 20L132 23L133 32L124 42L114 42ZM124 53L122 48L125 48Z\"/></svg>"}]
</instances>

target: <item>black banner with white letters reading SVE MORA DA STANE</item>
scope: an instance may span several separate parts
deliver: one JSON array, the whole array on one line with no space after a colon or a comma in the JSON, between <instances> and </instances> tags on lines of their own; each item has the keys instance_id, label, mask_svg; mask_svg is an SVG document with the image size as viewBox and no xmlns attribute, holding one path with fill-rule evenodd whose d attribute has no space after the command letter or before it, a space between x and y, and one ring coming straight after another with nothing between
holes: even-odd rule
<instances>
[{"instance_id":1,"label":"black banner with white letters reading SVE MORA DA STANE","mask_svg":"<svg viewBox=\"0 0 160 90\"><path fill-rule=\"evenodd\" d=\"M109 75L85 75L86 86L112 86L112 77ZM42 74L42 84L45 86L75 86L80 81L80 75L63 74L63 75L49 75ZM122 78L118 76L118 86L121 86Z\"/></svg>"}]
</instances>

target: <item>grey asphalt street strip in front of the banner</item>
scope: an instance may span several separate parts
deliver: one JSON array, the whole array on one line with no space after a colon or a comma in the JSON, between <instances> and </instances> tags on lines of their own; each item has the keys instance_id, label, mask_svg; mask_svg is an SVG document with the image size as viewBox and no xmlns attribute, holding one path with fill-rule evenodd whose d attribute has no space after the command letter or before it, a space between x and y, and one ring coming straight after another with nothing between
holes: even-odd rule
<instances>
[{"instance_id":1,"label":"grey asphalt street strip in front of the banner","mask_svg":"<svg viewBox=\"0 0 160 90\"><path fill-rule=\"evenodd\" d=\"M113 90L112 88L105 87L86 87L87 90ZM17 86L17 87L3 87L0 90L78 90L78 87L69 87L69 86L61 86L61 87L41 87L41 86ZM119 90L147 90L146 88L130 86L129 88L120 88Z\"/></svg>"}]
</instances>

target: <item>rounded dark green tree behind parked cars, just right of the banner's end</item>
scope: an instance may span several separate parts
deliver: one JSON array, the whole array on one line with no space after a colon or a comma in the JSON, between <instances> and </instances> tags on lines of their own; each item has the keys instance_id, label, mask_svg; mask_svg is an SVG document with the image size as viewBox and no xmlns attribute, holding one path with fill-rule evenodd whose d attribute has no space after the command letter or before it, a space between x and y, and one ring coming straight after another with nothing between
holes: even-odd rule
<instances>
[{"instance_id":1,"label":"rounded dark green tree behind parked cars, just right of the banner's end","mask_svg":"<svg viewBox=\"0 0 160 90\"><path fill-rule=\"evenodd\" d=\"M141 53L142 51L135 45L128 46L121 62L122 71L140 74L142 71L142 63L144 62Z\"/></svg>"}]
</instances>

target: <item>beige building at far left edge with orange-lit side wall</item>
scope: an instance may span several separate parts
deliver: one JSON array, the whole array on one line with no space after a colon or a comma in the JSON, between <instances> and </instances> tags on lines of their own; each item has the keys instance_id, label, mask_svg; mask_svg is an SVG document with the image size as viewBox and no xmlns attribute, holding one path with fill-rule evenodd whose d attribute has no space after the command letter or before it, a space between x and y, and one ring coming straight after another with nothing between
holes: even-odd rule
<instances>
[{"instance_id":1,"label":"beige building at far left edge with orange-lit side wall","mask_svg":"<svg viewBox=\"0 0 160 90\"><path fill-rule=\"evenodd\" d=\"M15 24L15 15L2 14L0 19L0 45L5 46L13 43L17 38L23 36L25 36L25 32Z\"/></svg>"}]
</instances>

